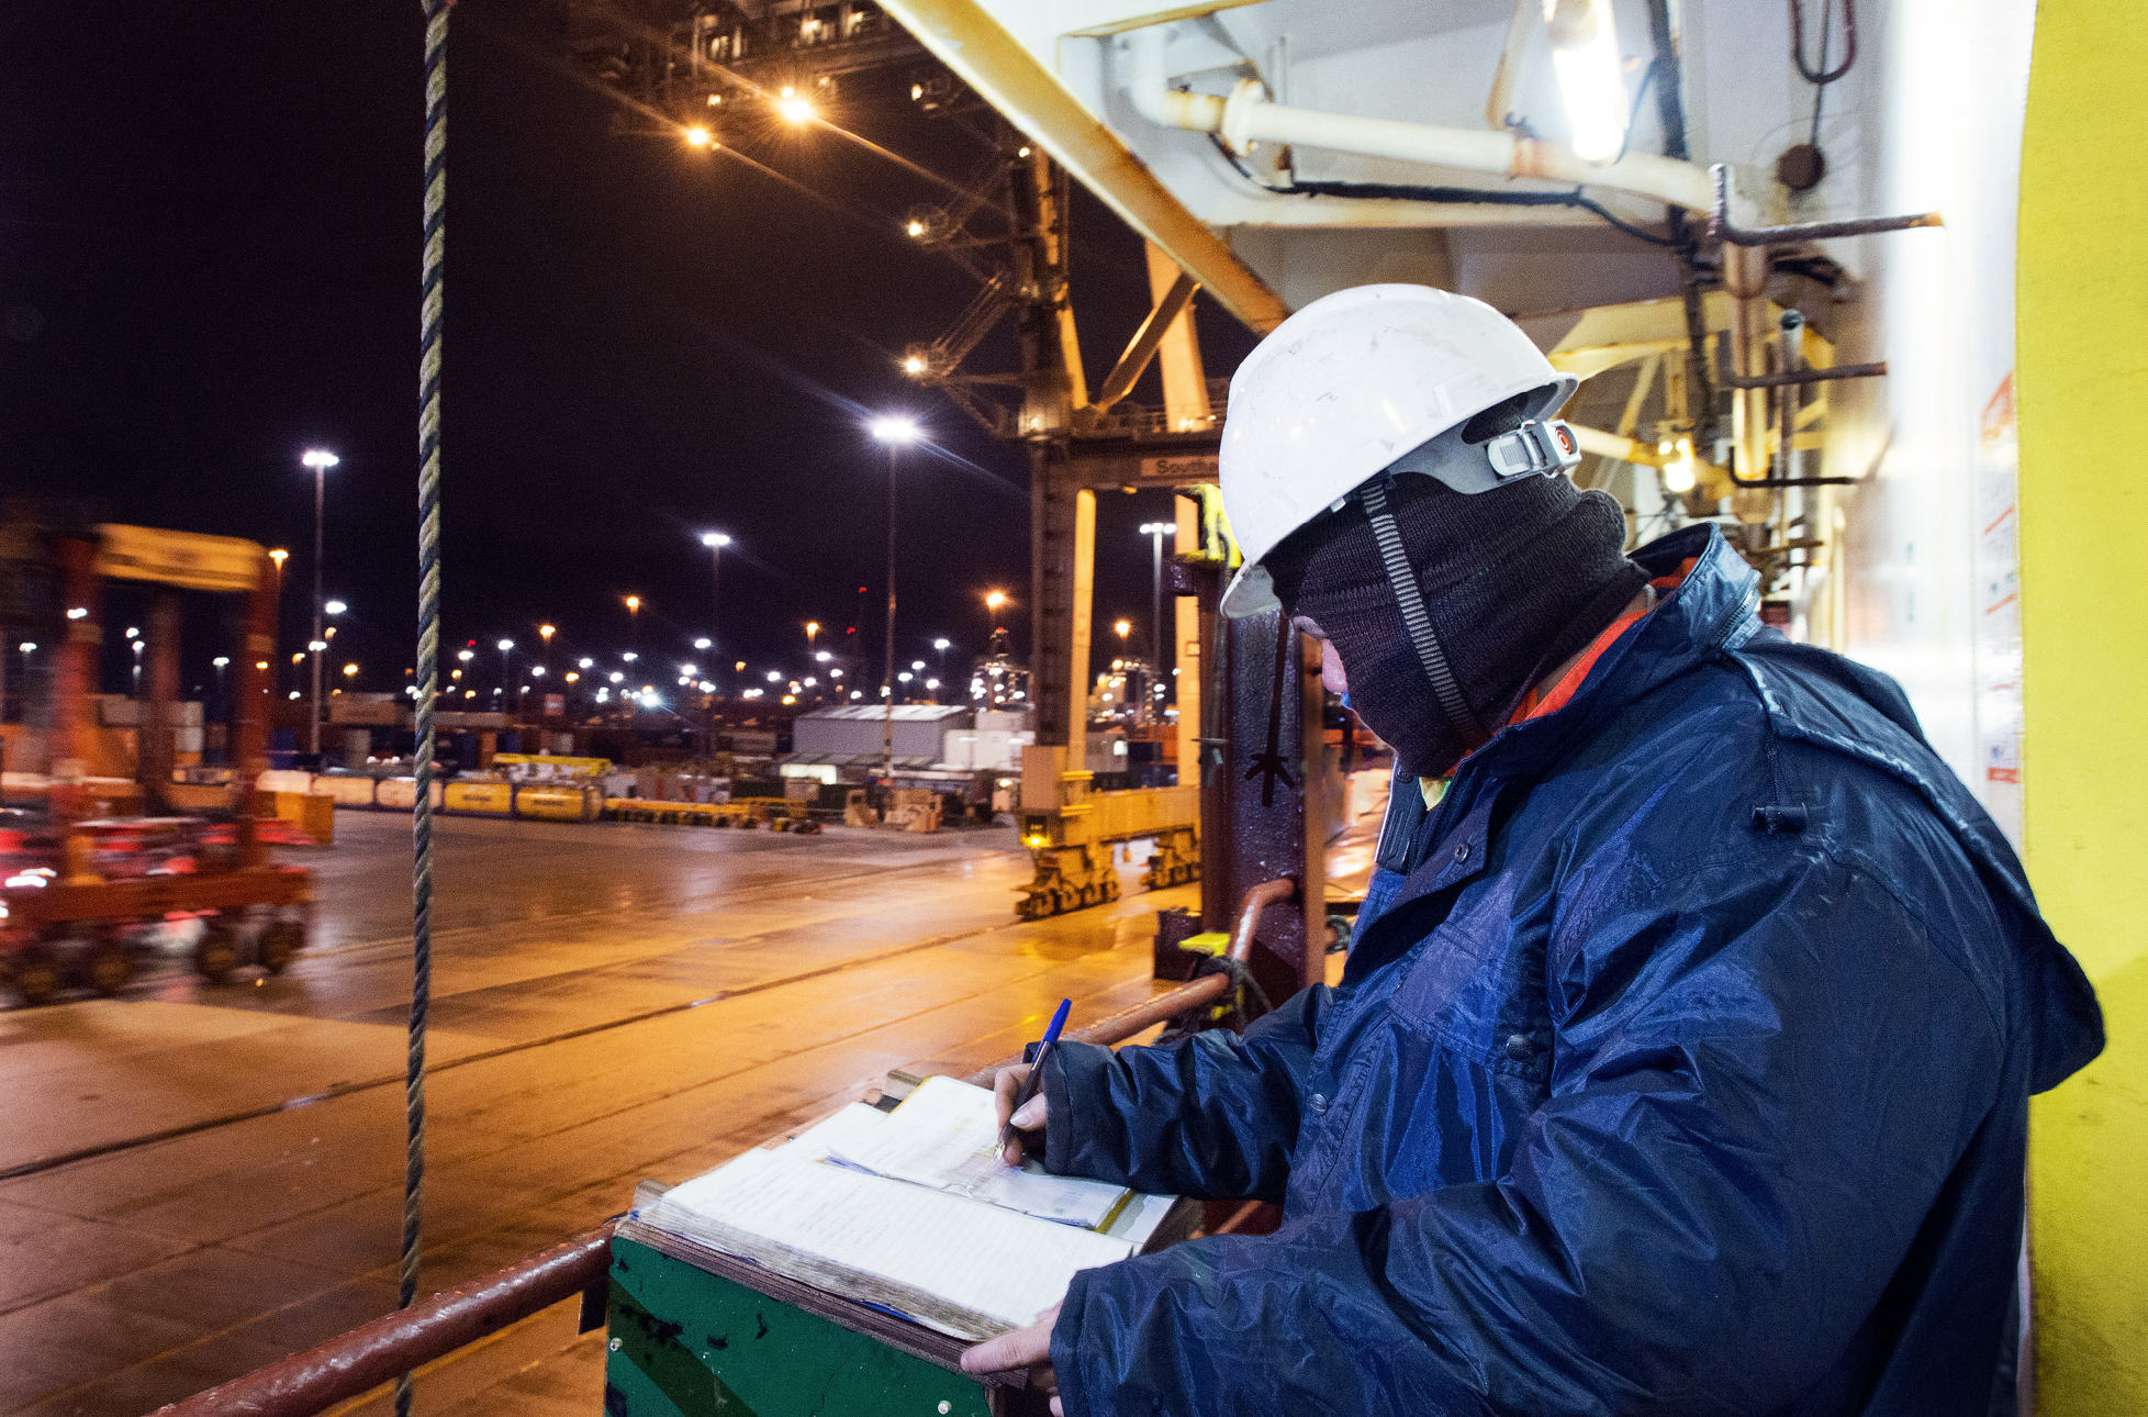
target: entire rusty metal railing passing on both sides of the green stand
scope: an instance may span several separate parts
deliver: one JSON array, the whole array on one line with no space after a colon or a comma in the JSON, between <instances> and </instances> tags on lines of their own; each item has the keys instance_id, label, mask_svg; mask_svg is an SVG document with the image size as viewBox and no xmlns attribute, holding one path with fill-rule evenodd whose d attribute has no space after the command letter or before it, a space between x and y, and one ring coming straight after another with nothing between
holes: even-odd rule
<instances>
[{"instance_id":1,"label":"entire rusty metal railing passing on both sides of the green stand","mask_svg":"<svg viewBox=\"0 0 2148 1417\"><path fill-rule=\"evenodd\" d=\"M1244 962L1252 949L1261 910L1289 900L1295 891L1295 880L1269 880L1246 891L1229 949L1233 960ZM1074 1028L1065 1037L1076 1043L1123 1043L1143 1028L1216 1003L1229 990L1231 975L1203 975L1169 994L1100 1018L1087 1028ZM971 1082L990 1086L997 1067L971 1073ZM382 1314L279 1363L161 1406L155 1417L314 1417L563 1299L593 1290L604 1284L610 1267L610 1224L584 1230L526 1260L494 1269L406 1310Z\"/></svg>"}]
</instances>

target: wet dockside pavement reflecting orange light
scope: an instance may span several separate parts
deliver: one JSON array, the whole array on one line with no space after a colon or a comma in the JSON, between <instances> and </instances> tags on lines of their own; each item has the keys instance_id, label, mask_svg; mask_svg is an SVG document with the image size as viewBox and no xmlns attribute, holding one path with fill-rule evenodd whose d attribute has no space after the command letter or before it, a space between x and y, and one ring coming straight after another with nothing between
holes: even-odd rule
<instances>
[{"instance_id":1,"label":"wet dockside pavement reflecting orange light","mask_svg":"<svg viewBox=\"0 0 2148 1417\"><path fill-rule=\"evenodd\" d=\"M393 1308L408 822L342 814L314 945L0 1013L0 1413L146 1413ZM442 818L423 1288L511 1262L879 1084L1147 998L1196 887L1016 923L1012 831ZM161 1138L161 1140L159 1140ZM548 1312L421 1411L601 1411ZM537 1363L537 1368L531 1368ZM518 1376L520 1374L520 1376Z\"/></svg>"}]
</instances>

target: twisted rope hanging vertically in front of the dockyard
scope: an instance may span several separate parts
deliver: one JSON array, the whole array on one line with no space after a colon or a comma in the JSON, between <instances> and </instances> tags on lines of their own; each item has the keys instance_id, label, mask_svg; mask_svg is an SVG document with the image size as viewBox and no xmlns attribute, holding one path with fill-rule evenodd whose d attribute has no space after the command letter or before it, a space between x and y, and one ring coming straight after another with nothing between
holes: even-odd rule
<instances>
[{"instance_id":1,"label":"twisted rope hanging vertically in front of the dockyard","mask_svg":"<svg viewBox=\"0 0 2148 1417\"><path fill-rule=\"evenodd\" d=\"M410 803L410 1058L404 1073L402 1299L417 1299L425 1200L425 1016L432 1009L432 754L440 689L440 309L447 253L447 11L425 11L425 255L417 361L417 792ZM395 1417L410 1417L410 1374L395 1378Z\"/></svg>"}]
</instances>

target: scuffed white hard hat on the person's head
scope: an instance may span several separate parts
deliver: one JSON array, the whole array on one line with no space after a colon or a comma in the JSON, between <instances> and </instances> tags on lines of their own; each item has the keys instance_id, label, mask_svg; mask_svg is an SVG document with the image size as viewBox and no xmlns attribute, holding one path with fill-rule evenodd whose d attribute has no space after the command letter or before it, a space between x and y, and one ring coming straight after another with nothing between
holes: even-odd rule
<instances>
[{"instance_id":1,"label":"scuffed white hard hat on the person's head","mask_svg":"<svg viewBox=\"0 0 2148 1417\"><path fill-rule=\"evenodd\" d=\"M1246 565L1222 612L1274 610L1261 558L1385 468L1426 472L1456 492L1572 468L1572 429L1542 419L1579 382L1553 369L1512 320L1469 296L1431 286L1358 286L1306 305L1231 378L1220 481ZM1454 457L1458 447L1446 444L1439 457L1420 453L1439 434L1525 393L1538 397L1521 410L1523 429L1463 459Z\"/></svg>"}]
</instances>

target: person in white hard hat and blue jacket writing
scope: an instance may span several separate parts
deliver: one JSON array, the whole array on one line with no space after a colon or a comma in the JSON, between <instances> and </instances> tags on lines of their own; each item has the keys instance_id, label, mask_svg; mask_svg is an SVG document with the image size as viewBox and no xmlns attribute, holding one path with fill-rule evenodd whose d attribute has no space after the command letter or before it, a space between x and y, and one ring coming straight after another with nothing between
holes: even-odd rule
<instances>
[{"instance_id":1,"label":"person in white hard hat and blue jacket writing","mask_svg":"<svg viewBox=\"0 0 2148 1417\"><path fill-rule=\"evenodd\" d=\"M2013 1411L2028 1097L2094 994L1892 681L1764 629L1714 524L1622 554L1572 389L1416 286L1246 359L1224 612L1317 636L1413 790L1340 988L1061 1046L1014 1119L1280 1230L1080 1271L967 1368L1072 1417Z\"/></svg>"}]
</instances>

